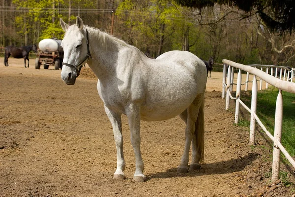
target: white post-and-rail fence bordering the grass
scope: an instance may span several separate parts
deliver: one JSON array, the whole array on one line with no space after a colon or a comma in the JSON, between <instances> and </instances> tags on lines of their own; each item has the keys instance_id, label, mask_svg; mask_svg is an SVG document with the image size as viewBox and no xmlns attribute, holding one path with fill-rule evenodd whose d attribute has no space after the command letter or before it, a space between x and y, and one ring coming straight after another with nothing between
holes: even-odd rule
<instances>
[{"instance_id":1,"label":"white post-and-rail fence bordering the grass","mask_svg":"<svg viewBox=\"0 0 295 197\"><path fill-rule=\"evenodd\" d=\"M280 153L282 152L290 164L295 168L295 161L290 156L290 154L286 151L286 149L281 144L282 138L282 119L283 119L283 97L282 91L287 91L290 93L295 93L295 83L292 82L294 77L294 69L289 71L290 75L286 75L286 70L284 71L284 79L286 81L281 80L282 78L282 69L280 72L280 76L274 77L270 73L268 74L268 68L274 67L275 69L281 68L281 66L266 66L266 72L263 71L262 65L251 65L246 66L242 64L235 63L230 60L223 59L222 62L224 63L223 68L223 79L222 79L222 98L226 97L226 106L225 109L229 109L230 99L236 100L236 110L235 110L235 123L238 123L239 120L239 107L240 104L251 113L250 117L250 140L249 144L254 145L255 142L255 124L256 122L260 125L266 135L274 142L273 143L273 161L272 161L272 182L279 179L279 172L280 172ZM252 66L262 66L261 69L257 69ZM236 85L236 97L231 95L234 85L234 68L238 70L237 74L237 83ZM247 107L241 100L240 100L240 92L241 92L241 85L242 85L242 74L241 71L244 70L247 72L246 81L244 84L248 85L249 74L253 75L252 81L252 99L251 99L251 108ZM274 69L271 69L274 70ZM289 70L289 69L288 69ZM277 70L276 70L277 71ZM262 124L260 119L256 115L256 100L257 100L257 77L260 78L260 89L262 82L266 82L266 87L268 84L276 87L279 89L277 100L276 100L276 110L275 110L275 123L274 123L274 136L270 134L270 132L266 129L266 127ZM290 82L291 81L291 82ZM246 88L247 89L247 88Z\"/></svg>"}]
</instances>

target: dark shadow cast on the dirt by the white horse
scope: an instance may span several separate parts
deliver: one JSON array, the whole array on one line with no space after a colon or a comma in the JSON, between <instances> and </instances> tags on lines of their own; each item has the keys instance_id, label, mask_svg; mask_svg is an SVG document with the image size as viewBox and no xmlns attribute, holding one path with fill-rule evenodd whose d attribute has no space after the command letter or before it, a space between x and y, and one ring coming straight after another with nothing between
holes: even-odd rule
<instances>
[{"instance_id":1,"label":"dark shadow cast on the dirt by the white horse","mask_svg":"<svg viewBox=\"0 0 295 197\"><path fill-rule=\"evenodd\" d=\"M202 164L200 170L189 171L186 174L177 173L177 168L168 169L166 172L157 172L154 174L147 175L147 180L154 178L172 178L172 177L196 177L203 175L212 175L212 174L229 174L233 172L242 171L247 165L250 165L259 154L257 153L248 153L248 155L232 159L228 161L221 161L215 163L205 163Z\"/></svg>"}]
</instances>

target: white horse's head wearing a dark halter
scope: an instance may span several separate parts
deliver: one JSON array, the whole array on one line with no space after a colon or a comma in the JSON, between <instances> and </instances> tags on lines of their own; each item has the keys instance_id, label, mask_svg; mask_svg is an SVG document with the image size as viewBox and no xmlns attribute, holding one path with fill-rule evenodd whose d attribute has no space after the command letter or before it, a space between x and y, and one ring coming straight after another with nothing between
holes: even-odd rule
<instances>
[{"instance_id":1,"label":"white horse's head wearing a dark halter","mask_svg":"<svg viewBox=\"0 0 295 197\"><path fill-rule=\"evenodd\" d=\"M86 29L83 29L83 21L78 16L76 24L69 26L60 18L60 25L65 31L61 42L64 52L61 78L67 85L73 85L90 54Z\"/></svg>"}]
</instances>

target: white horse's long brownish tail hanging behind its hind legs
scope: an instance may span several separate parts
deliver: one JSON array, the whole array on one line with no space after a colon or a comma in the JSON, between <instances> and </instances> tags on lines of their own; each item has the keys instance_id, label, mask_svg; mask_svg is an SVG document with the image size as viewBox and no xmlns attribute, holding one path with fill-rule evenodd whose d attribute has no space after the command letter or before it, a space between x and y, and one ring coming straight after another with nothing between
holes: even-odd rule
<instances>
[{"instance_id":1,"label":"white horse's long brownish tail hanging behind its hind legs","mask_svg":"<svg viewBox=\"0 0 295 197\"><path fill-rule=\"evenodd\" d=\"M198 155L200 156L199 162L203 163L204 161L204 96L202 98L202 104L199 109L198 118L195 123L196 129L195 129L195 136L196 136L196 147Z\"/></svg>"}]
</instances>

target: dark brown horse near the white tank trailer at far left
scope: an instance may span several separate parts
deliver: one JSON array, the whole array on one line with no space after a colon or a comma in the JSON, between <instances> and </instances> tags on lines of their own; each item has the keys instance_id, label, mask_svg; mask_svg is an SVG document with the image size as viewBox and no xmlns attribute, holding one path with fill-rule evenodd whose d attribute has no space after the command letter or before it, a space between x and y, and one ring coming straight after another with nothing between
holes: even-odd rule
<instances>
[{"instance_id":1,"label":"dark brown horse near the white tank trailer at far left","mask_svg":"<svg viewBox=\"0 0 295 197\"><path fill-rule=\"evenodd\" d=\"M29 52L34 51L37 52L37 46L36 44L29 45L29 46L23 46L23 47L15 47L15 46L6 46L5 47L5 57L4 57L4 65L9 66L8 64L8 58L10 55L14 58L24 58L24 64L26 68L26 60L28 60L28 67L29 67Z\"/></svg>"}]
</instances>

